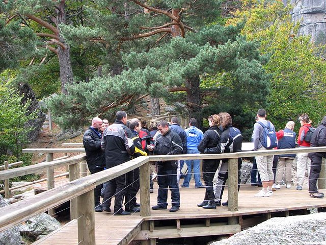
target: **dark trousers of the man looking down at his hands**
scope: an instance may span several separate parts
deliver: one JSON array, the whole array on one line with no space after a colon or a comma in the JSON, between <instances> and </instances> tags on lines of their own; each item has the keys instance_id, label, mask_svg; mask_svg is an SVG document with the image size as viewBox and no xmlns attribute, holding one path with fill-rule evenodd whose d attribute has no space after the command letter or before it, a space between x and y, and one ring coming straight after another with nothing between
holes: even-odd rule
<instances>
[{"instance_id":1,"label":"dark trousers of the man looking down at his hands","mask_svg":"<svg viewBox=\"0 0 326 245\"><path fill-rule=\"evenodd\" d=\"M157 205L167 207L168 188L171 190L172 206L180 207L180 191L177 183L177 169L158 168Z\"/></svg>"}]
</instances>

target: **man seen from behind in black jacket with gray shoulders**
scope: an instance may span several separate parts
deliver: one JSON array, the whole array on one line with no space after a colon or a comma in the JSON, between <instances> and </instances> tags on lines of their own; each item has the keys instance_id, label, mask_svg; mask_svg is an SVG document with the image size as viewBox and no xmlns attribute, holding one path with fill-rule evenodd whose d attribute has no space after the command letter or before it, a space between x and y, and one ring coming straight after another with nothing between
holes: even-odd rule
<instances>
[{"instance_id":1,"label":"man seen from behind in black jacket with gray shoulders","mask_svg":"<svg viewBox=\"0 0 326 245\"><path fill-rule=\"evenodd\" d=\"M131 136L131 131L125 125L127 123L127 113L118 111L114 124L105 129L102 138L102 150L105 151L106 168L118 166L130 160L130 155L134 153L133 143L129 146L127 134ZM130 137L129 136L129 137ZM122 203L126 194L127 175L123 174L107 184L104 191L103 210L110 212L111 198L115 194L114 215L127 215L130 212L123 210Z\"/></svg>"}]
</instances>

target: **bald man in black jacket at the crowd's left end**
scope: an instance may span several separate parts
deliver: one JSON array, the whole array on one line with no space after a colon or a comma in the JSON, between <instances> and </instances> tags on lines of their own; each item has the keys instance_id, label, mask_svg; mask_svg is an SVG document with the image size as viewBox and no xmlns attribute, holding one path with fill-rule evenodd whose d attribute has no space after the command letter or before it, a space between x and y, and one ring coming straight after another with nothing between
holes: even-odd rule
<instances>
[{"instance_id":1,"label":"bald man in black jacket at the crowd's left end","mask_svg":"<svg viewBox=\"0 0 326 245\"><path fill-rule=\"evenodd\" d=\"M83 144L86 152L86 161L88 169L91 174L98 173L104 170L105 155L101 150L102 134L99 131L102 125L102 120L94 117L92 126L89 127L83 136ZM102 205L100 205L100 194L103 184L96 186L94 190L95 212L102 212Z\"/></svg>"}]
</instances>

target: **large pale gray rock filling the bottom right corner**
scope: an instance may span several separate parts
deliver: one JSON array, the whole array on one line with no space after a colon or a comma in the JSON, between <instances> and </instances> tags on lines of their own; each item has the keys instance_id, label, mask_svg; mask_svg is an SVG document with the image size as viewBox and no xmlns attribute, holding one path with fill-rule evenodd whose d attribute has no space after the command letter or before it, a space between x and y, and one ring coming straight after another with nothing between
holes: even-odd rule
<instances>
[{"instance_id":1,"label":"large pale gray rock filling the bottom right corner","mask_svg":"<svg viewBox=\"0 0 326 245\"><path fill-rule=\"evenodd\" d=\"M326 244L326 213L271 218L213 245Z\"/></svg>"}]
</instances>

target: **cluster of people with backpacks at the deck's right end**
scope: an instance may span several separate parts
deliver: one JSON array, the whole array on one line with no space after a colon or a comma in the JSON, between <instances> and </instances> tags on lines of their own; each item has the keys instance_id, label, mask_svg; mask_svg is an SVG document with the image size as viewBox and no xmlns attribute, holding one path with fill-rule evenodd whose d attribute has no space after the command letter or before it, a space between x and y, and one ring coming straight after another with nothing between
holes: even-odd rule
<instances>
[{"instance_id":1,"label":"cluster of people with backpacks at the deck's right end","mask_svg":"<svg viewBox=\"0 0 326 245\"><path fill-rule=\"evenodd\" d=\"M314 146L326 146L326 116L322 119L321 124L316 128L312 128L309 116L303 113L299 116L301 128L297 136L298 148L307 148ZM259 109L254 125L253 142L254 151L268 150L262 145L262 137L264 136L264 127L275 130L274 125L266 120L266 111ZM296 133L294 130L294 121L288 121L284 130L276 132L277 149L292 149L296 146ZM310 131L310 132L309 132ZM308 170L309 193L312 198L323 198L324 194L318 192L316 183L319 178L322 157L326 158L325 152L319 153L298 153L297 169L296 169L296 190L302 190L303 181ZM286 188L291 188L291 167L295 154L281 154L278 156L257 156L255 157L258 169L258 183L255 176L255 164L253 165L252 185L261 183L262 189L255 194L255 197L270 197L273 195L273 188L280 189L282 179ZM276 172L273 173L273 169Z\"/></svg>"}]
</instances>

